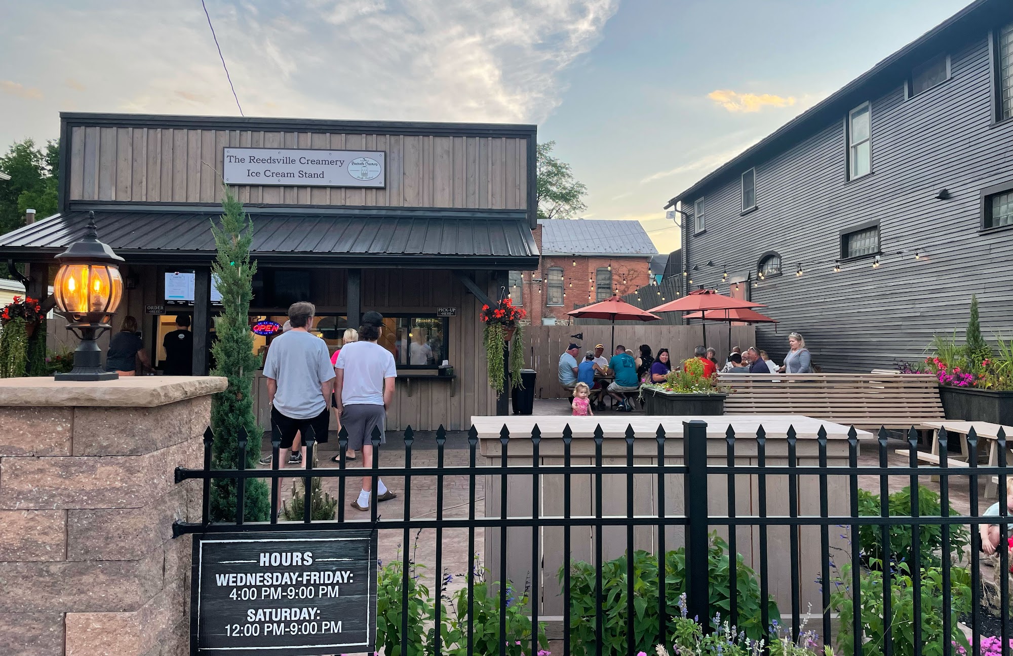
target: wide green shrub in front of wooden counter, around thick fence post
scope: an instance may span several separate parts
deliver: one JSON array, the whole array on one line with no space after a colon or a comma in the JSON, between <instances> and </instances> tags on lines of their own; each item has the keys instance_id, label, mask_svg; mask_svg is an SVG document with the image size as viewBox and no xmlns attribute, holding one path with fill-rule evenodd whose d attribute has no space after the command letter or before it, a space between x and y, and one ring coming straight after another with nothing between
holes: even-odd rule
<instances>
[{"instance_id":1,"label":"wide green shrub in front of wooden counter, around thick fence post","mask_svg":"<svg viewBox=\"0 0 1013 656\"><path fill-rule=\"evenodd\" d=\"M708 554L710 581L710 608L720 617L730 613L730 569L727 544L711 536ZM766 637L763 626L762 598L756 572L749 568L743 557L736 554L737 570L735 579L737 628L749 638L761 640ZM644 551L633 553L633 621L632 651L649 652L657 639L660 618L658 617L657 558ZM573 654L595 653L597 641L602 641L603 653L625 654L627 631L626 611L626 556L602 565L603 631L596 630L596 578L597 568L581 561L570 563L570 649ZM563 571L560 569L559 578ZM686 592L686 551L671 551L665 557L665 598L669 623L666 635L675 635L677 619L681 616L680 596ZM781 614L773 597L767 600L769 620L780 621ZM719 623L716 623L719 624ZM712 625L715 625L712 622Z\"/></svg>"}]
</instances>

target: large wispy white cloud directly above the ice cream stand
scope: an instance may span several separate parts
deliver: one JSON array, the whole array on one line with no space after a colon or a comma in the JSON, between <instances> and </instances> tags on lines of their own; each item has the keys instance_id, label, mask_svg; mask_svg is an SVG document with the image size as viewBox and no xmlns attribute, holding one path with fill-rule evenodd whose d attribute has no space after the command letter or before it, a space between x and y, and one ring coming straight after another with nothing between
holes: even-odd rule
<instances>
[{"instance_id":1,"label":"large wispy white cloud directly above the ice cream stand","mask_svg":"<svg viewBox=\"0 0 1013 656\"><path fill-rule=\"evenodd\" d=\"M312 0L208 8L246 115L539 122L560 102L559 74L594 48L617 5ZM45 25L57 45L35 52L23 87L0 83L18 96L0 102L0 113L21 118L19 133L41 121L32 119L40 108L13 103L44 94L48 126L71 101L93 111L237 113L200 4L81 3L56 22L42 8L17 14L23 33ZM18 47L0 38L0 61ZM0 141L22 136L7 132L0 128Z\"/></svg>"}]
</instances>

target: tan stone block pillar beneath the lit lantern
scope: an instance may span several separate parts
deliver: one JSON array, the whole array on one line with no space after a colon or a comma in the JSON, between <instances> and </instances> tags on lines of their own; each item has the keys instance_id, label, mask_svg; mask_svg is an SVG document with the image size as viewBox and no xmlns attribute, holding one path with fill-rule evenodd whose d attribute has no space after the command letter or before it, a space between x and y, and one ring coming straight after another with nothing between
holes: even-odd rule
<instances>
[{"instance_id":1,"label":"tan stone block pillar beneath the lit lantern","mask_svg":"<svg viewBox=\"0 0 1013 656\"><path fill-rule=\"evenodd\" d=\"M189 537L226 379L0 381L0 652L188 653Z\"/></svg>"}]
</instances>

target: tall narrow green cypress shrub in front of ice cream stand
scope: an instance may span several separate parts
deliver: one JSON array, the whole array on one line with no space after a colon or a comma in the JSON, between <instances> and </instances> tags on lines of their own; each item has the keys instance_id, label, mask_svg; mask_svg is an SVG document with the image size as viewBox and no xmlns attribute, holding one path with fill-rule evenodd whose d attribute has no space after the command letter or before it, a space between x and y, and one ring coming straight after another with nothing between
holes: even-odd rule
<instances>
[{"instance_id":1,"label":"tall narrow green cypress shrub in front of ice cream stand","mask_svg":"<svg viewBox=\"0 0 1013 656\"><path fill-rule=\"evenodd\" d=\"M243 212L243 203L225 187L219 225L212 222L218 254L212 264L212 274L222 295L222 315L216 326L217 338L212 348L215 355L213 376L229 379L225 392L215 395L211 406L211 427L215 433L212 462L216 469L236 469L239 464L239 429L248 437L246 469L255 469L260 455L263 431L253 413L253 375L257 357L253 353L253 335L249 329L249 307L253 297L253 274L256 261L250 261L253 224ZM266 484L257 479L246 481L244 519L266 521L270 513L270 496ZM211 518L213 521L233 521L236 516L236 480L212 482Z\"/></svg>"}]
</instances>

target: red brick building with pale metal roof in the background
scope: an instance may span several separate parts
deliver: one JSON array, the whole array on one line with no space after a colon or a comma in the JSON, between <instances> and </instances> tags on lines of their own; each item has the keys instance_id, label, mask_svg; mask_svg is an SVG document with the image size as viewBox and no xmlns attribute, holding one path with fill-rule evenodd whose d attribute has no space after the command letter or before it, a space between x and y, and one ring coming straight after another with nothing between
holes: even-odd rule
<instances>
[{"instance_id":1,"label":"red brick building with pale metal roof in the background","mask_svg":"<svg viewBox=\"0 0 1013 656\"><path fill-rule=\"evenodd\" d=\"M510 295L534 325L568 324L566 313L649 281L657 249L636 221L541 220L534 271L511 271Z\"/></svg>"}]
</instances>

